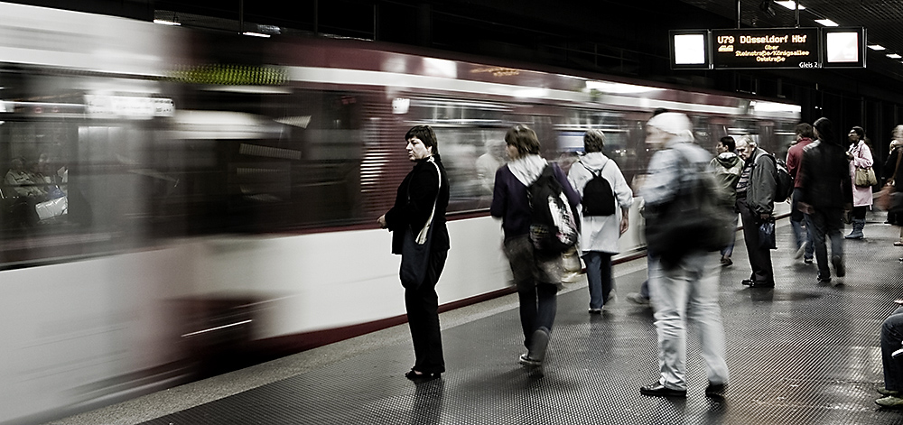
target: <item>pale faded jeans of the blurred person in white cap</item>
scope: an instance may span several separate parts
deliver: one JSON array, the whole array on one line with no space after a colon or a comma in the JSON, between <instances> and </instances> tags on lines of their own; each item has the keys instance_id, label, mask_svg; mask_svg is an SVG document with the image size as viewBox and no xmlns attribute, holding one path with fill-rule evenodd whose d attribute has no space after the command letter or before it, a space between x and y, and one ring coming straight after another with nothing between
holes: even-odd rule
<instances>
[{"instance_id":1,"label":"pale faded jeans of the blurred person in white cap","mask_svg":"<svg viewBox=\"0 0 903 425\"><path fill-rule=\"evenodd\" d=\"M659 383L668 388L686 390L688 319L699 332L709 382L728 382L716 267L714 254L705 252L685 254L669 269L664 269L658 258L649 261L649 291L656 309Z\"/></svg>"}]
</instances>

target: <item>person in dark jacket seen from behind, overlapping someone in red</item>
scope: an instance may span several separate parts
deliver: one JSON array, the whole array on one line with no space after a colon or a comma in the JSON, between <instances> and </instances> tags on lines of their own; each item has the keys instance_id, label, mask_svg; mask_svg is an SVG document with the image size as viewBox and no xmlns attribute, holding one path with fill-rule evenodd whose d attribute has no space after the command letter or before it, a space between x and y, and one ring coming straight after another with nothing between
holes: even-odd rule
<instances>
[{"instance_id":1,"label":"person in dark jacket seen from behind, overlapping someone in red","mask_svg":"<svg viewBox=\"0 0 903 425\"><path fill-rule=\"evenodd\" d=\"M846 149L834 138L831 121L818 118L815 121L815 137L818 138L803 150L800 167L802 196L799 208L807 214L806 226L812 233L815 245L815 262L818 263L818 282L831 282L828 268L828 250L824 238L831 239L831 263L837 277L846 274L843 266L842 214L852 209L852 183Z\"/></svg>"}]
</instances>

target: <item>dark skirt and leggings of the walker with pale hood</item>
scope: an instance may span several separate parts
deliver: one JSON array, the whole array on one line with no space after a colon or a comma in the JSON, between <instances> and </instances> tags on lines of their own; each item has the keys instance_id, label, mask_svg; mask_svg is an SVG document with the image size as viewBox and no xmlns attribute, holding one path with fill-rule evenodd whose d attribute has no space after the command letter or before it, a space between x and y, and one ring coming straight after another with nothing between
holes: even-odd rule
<instances>
[{"instance_id":1,"label":"dark skirt and leggings of the walker with pale hood","mask_svg":"<svg viewBox=\"0 0 903 425\"><path fill-rule=\"evenodd\" d=\"M556 273L549 273L549 268L542 264L545 262L537 261L533 244L526 235L505 241L505 254L508 263L511 264L511 273L514 274L514 282L517 285L524 346L529 348L536 329L545 328L552 331L555 313L558 310L556 299L558 284L561 282L545 282Z\"/></svg>"}]
</instances>

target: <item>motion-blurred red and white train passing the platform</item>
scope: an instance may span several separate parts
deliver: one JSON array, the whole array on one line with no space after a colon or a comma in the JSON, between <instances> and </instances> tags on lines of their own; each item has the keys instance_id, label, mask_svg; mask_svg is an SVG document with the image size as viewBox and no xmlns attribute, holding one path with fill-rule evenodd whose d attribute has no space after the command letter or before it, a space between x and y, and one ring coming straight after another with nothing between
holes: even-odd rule
<instances>
[{"instance_id":1,"label":"motion-blurred red and white train passing the platform","mask_svg":"<svg viewBox=\"0 0 903 425\"><path fill-rule=\"evenodd\" d=\"M444 308L509 291L492 179L533 127L564 168L601 129L628 181L644 123L782 157L798 106L330 38L261 39L0 3L0 423L404 321L376 218L432 125L449 171ZM639 199L622 255L641 253Z\"/></svg>"}]
</instances>

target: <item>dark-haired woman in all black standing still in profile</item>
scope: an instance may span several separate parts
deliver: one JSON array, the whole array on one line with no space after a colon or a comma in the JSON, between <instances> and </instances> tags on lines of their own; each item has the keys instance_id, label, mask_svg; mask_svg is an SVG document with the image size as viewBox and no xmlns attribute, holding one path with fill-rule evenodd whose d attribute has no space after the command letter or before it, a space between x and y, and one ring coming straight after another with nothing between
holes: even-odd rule
<instances>
[{"instance_id":1,"label":"dark-haired woman in all black standing still in profile","mask_svg":"<svg viewBox=\"0 0 903 425\"><path fill-rule=\"evenodd\" d=\"M432 127L414 126L405 134L405 142L408 159L414 162L414 169L398 186L395 206L380 216L377 223L392 232L392 254L402 255L405 255L403 245L406 233L416 234L424 226L432 227L432 236L428 236L425 242L430 246L423 282L402 282L405 285L405 309L415 356L414 367L405 377L418 382L438 378L445 372L436 283L445 267L450 247L448 228L445 226L449 179L439 157L439 145Z\"/></svg>"}]
</instances>

